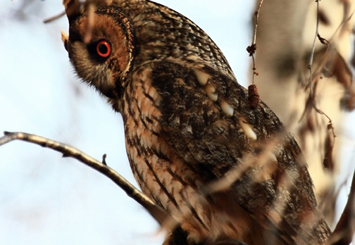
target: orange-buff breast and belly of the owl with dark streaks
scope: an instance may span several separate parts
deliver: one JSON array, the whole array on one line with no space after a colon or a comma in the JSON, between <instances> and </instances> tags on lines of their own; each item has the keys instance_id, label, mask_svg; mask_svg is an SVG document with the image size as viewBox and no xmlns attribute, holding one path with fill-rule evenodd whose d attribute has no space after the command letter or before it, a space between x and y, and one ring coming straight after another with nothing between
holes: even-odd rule
<instances>
[{"instance_id":1,"label":"orange-buff breast and belly of the owl with dark streaks","mask_svg":"<svg viewBox=\"0 0 355 245\"><path fill-rule=\"evenodd\" d=\"M226 196L231 196L230 194L206 196L201 189L213 180L211 171L204 169L203 166L196 168L187 163L185 158L187 160L191 158L189 152L186 151L185 157L179 155L163 136L164 130L167 130L163 122L166 117L174 120L176 127L181 127L186 134L193 134L195 130L199 130L197 126L189 125L191 122L187 121L188 115L184 116L183 113L180 115L179 108L184 110L185 105L163 103L163 97L168 96L167 93L173 96L173 92L170 94L169 91L162 91L159 89L159 84L156 84L160 83L161 76L169 75L172 69L179 70L176 70L179 75L173 77L177 86L187 82L200 87L197 84L197 77L180 65L168 66L170 70L166 70L166 63L150 63L142 66L135 71L123 94L126 150L135 179L145 194L180 222L182 229L189 234L190 244L215 241L220 237L252 241L250 231L245 227L250 227L251 224L259 225L251 220L235 201L225 200ZM159 70L158 73L156 70ZM181 70L186 70L187 73L181 73ZM191 75L194 80L187 81ZM190 98L184 100L191 100L193 103L199 98L201 102L204 101L203 103L209 101L206 94L199 92L194 92ZM199 125L199 127L213 125L213 120L217 120L217 115L214 115L218 113L216 106L211 104L211 109L208 106L200 109L202 111L199 113L205 114L206 125ZM167 111L174 115L178 113L178 118L169 115Z\"/></svg>"}]
</instances>

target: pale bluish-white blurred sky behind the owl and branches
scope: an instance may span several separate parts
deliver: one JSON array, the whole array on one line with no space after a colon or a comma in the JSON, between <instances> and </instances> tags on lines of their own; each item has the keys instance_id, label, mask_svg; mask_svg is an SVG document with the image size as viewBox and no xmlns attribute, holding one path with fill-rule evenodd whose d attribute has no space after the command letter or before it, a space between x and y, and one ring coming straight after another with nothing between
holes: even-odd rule
<instances>
[{"instance_id":1,"label":"pale bluish-white blurred sky behind the owl and branches","mask_svg":"<svg viewBox=\"0 0 355 245\"><path fill-rule=\"evenodd\" d=\"M247 86L253 1L161 0L205 30ZM38 134L106 162L135 184L123 122L105 99L77 80L61 42L61 0L0 3L0 131ZM261 98L262 99L262 98ZM354 115L346 132L354 139ZM354 172L354 142L344 149L342 180ZM348 175L347 175L348 174ZM341 181L340 181L341 182ZM136 184L135 184L136 185ZM342 210L349 184L340 191ZM339 212L337 217L339 216ZM25 142L0 147L0 244L161 244L158 225L99 172Z\"/></svg>"}]
</instances>

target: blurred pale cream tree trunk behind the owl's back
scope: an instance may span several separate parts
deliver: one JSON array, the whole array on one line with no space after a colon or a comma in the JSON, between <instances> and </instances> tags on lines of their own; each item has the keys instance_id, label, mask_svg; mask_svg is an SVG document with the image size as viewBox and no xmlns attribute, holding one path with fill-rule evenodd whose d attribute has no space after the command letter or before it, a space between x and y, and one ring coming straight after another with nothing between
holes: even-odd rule
<instances>
[{"instance_id":1,"label":"blurred pale cream tree trunk behind the owl's back","mask_svg":"<svg viewBox=\"0 0 355 245\"><path fill-rule=\"evenodd\" d=\"M264 1L256 38L259 76L255 84L261 99L297 137L309 165L318 207L330 225L334 222L343 115L354 108L347 62L353 27L351 6L352 1L319 3L319 34L326 40L322 44L316 39L311 97L309 61L316 34L317 3ZM328 115L332 125L314 107Z\"/></svg>"}]
</instances>

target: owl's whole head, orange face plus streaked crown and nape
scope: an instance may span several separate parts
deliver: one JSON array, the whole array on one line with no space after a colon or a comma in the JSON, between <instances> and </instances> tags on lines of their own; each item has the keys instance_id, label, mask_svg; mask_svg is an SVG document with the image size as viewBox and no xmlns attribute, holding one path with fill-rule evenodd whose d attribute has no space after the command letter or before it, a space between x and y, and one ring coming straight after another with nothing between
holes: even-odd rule
<instances>
[{"instance_id":1,"label":"owl's whole head, orange face plus streaked crown and nape","mask_svg":"<svg viewBox=\"0 0 355 245\"><path fill-rule=\"evenodd\" d=\"M119 99L140 65L167 61L211 68L233 77L208 35L166 6L147 0L64 0L70 61L85 82Z\"/></svg>"}]
</instances>

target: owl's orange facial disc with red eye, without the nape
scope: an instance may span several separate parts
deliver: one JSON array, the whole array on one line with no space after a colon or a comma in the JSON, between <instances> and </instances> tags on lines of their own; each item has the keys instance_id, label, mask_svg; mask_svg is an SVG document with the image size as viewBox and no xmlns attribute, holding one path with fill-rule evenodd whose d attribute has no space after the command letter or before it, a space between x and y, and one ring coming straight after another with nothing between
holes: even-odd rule
<instances>
[{"instance_id":1,"label":"owl's orange facial disc with red eye, without the nape","mask_svg":"<svg viewBox=\"0 0 355 245\"><path fill-rule=\"evenodd\" d=\"M108 98L117 98L135 56L130 21L117 7L103 2L70 3L66 8L69 36L63 38L70 61L85 82Z\"/></svg>"}]
</instances>

